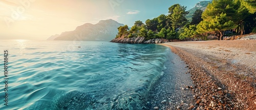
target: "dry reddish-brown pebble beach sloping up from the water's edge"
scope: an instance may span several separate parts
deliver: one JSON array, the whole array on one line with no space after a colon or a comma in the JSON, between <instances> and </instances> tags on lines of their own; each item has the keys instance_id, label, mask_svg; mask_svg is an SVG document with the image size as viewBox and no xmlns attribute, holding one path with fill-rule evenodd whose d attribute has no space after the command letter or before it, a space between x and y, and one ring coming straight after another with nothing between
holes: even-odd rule
<instances>
[{"instance_id":1,"label":"dry reddish-brown pebble beach sloping up from the water's edge","mask_svg":"<svg viewBox=\"0 0 256 110\"><path fill-rule=\"evenodd\" d=\"M256 40L168 42L188 64L193 106L182 109L256 109ZM184 73L185 74L185 73Z\"/></svg>"}]
</instances>

